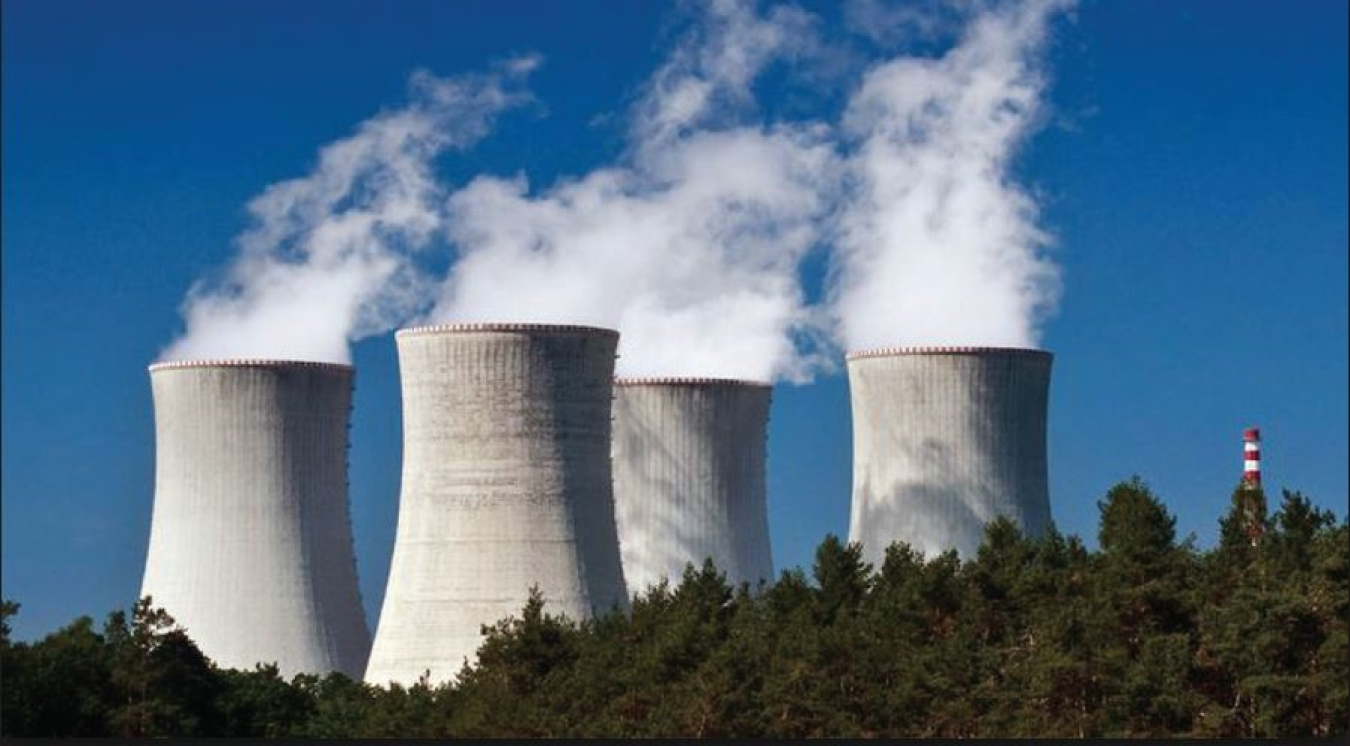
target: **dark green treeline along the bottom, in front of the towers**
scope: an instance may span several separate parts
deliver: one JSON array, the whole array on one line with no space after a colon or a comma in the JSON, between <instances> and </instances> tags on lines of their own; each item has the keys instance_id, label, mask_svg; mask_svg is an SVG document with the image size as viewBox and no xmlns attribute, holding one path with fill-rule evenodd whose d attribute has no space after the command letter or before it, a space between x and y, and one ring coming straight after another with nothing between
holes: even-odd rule
<instances>
[{"instance_id":1,"label":"dark green treeline along the bottom, in front of the towers","mask_svg":"<svg viewBox=\"0 0 1350 746\"><path fill-rule=\"evenodd\" d=\"M40 642L4 625L5 735L1096 737L1350 733L1350 534L1239 488L1220 544L1177 541L1138 479L1100 550L992 523L979 554L880 568L828 537L810 576L729 588L711 565L630 614L487 630L455 685L389 689L215 668L142 600ZM4 618L18 611L5 603Z\"/></svg>"}]
</instances>

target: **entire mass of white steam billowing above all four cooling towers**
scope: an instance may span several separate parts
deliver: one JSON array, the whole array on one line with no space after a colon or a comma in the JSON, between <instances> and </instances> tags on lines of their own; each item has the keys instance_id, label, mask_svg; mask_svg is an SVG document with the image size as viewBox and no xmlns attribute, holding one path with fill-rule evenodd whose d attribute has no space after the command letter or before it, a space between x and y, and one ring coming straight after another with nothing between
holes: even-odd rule
<instances>
[{"instance_id":1,"label":"entire mass of white steam billowing above all four cooling towers","mask_svg":"<svg viewBox=\"0 0 1350 746\"><path fill-rule=\"evenodd\" d=\"M543 321L618 328L621 375L801 382L832 343L1034 345L1058 272L1010 162L1041 121L1038 58L1064 7L856 0L845 22L875 45L963 31L938 57L868 66L832 123L771 121L755 88L852 49L796 8L699 5L628 109L622 155L543 189L517 174L447 190L432 173L531 100L537 58L417 74L405 108L250 204L239 258L192 290L163 356L346 362L405 322ZM425 277L414 255L443 240L456 260ZM811 304L815 250L830 271Z\"/></svg>"}]
</instances>

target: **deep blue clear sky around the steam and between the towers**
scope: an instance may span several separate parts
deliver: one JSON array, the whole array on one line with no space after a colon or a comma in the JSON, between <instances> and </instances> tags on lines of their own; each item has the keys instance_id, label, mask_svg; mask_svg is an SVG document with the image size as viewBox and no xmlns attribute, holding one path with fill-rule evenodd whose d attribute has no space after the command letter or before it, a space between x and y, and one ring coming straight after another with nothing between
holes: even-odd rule
<instances>
[{"instance_id":1,"label":"deep blue clear sky around the steam and between the towers","mask_svg":"<svg viewBox=\"0 0 1350 746\"><path fill-rule=\"evenodd\" d=\"M840 7L807 4L828 30ZM539 53L543 108L440 163L451 185L579 174L624 147L616 112L662 62L657 3L4 4L3 594L20 637L128 604L154 478L146 364L246 202L397 105L408 76ZM1095 542L1131 474L1212 544L1260 425L1268 488L1347 500L1346 7L1084 3L1054 26L1049 124L1017 161L1064 274L1052 507ZM842 32L842 31L840 31ZM768 111L840 105L795 90ZM814 109L813 109L814 107ZM806 263L805 285L824 264ZM351 503L374 623L397 517L392 335L354 347ZM779 568L848 530L848 387L779 384Z\"/></svg>"}]
</instances>

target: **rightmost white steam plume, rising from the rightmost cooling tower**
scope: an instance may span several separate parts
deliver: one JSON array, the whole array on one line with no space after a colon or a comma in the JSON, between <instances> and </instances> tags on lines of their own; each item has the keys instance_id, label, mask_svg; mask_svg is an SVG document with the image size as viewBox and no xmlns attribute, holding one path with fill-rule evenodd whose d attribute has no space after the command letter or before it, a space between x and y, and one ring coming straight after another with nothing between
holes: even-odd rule
<instances>
[{"instance_id":1,"label":"rightmost white steam plume, rising from the rightmost cooling tower","mask_svg":"<svg viewBox=\"0 0 1350 746\"><path fill-rule=\"evenodd\" d=\"M942 57L864 76L844 116L852 183L829 289L846 348L1037 344L1058 270L1010 162L1040 124L1038 59L1064 7L986 8Z\"/></svg>"}]
</instances>

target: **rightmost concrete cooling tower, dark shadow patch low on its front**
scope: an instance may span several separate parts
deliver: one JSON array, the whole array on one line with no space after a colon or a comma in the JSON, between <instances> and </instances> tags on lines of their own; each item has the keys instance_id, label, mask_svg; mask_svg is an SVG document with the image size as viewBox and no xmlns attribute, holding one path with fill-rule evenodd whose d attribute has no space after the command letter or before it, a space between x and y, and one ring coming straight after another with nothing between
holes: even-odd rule
<instances>
[{"instance_id":1,"label":"rightmost concrete cooling tower, dark shadow patch low on its front","mask_svg":"<svg viewBox=\"0 0 1350 746\"><path fill-rule=\"evenodd\" d=\"M848 356L853 402L849 540L880 568L886 546L973 557L984 525L1050 525L1049 352L918 347Z\"/></svg>"}]
</instances>

